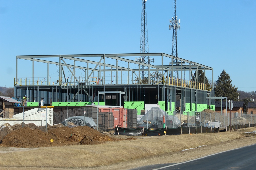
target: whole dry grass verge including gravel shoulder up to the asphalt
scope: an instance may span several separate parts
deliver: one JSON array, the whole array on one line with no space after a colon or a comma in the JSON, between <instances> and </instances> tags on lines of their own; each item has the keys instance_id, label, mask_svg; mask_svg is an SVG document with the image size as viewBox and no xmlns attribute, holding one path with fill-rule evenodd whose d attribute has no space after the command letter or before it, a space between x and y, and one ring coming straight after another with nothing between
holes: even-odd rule
<instances>
[{"instance_id":1,"label":"whole dry grass verge including gravel shoulder up to the asphalt","mask_svg":"<svg viewBox=\"0 0 256 170\"><path fill-rule=\"evenodd\" d=\"M0 145L0 169L132 169L177 163L254 144L255 134L244 133L254 130L251 127L232 132L153 137L106 135L105 139L112 140L93 145L31 148Z\"/></svg>"}]
</instances>

